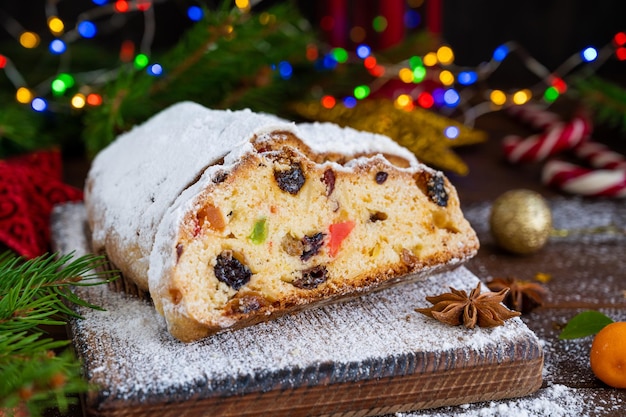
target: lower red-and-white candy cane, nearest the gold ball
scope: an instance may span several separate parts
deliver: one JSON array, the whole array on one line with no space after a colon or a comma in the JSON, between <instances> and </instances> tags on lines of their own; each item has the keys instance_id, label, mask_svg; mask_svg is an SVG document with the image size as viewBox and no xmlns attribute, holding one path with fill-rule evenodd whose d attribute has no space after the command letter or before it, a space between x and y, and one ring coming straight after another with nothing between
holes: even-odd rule
<instances>
[{"instance_id":1,"label":"lower red-and-white candy cane, nearest the gold ball","mask_svg":"<svg viewBox=\"0 0 626 417\"><path fill-rule=\"evenodd\" d=\"M588 197L626 197L626 170L588 169L552 160L543 167L543 184Z\"/></svg>"}]
</instances>

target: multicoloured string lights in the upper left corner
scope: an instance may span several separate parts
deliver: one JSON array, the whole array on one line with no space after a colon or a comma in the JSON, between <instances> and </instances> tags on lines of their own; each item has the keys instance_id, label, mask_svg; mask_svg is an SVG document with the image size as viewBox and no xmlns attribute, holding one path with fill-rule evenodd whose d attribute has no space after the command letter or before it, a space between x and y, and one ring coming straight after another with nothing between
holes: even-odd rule
<instances>
[{"instance_id":1,"label":"multicoloured string lights in the upper left corner","mask_svg":"<svg viewBox=\"0 0 626 417\"><path fill-rule=\"evenodd\" d=\"M9 82L15 87L17 102L30 105L36 112L62 112L82 109L85 106L100 106L102 96L98 88L115 79L127 65L136 70L145 70L149 75L162 75L163 68L158 62L151 62L151 48L156 31L154 5L167 0L92 0L93 7L81 13L73 27L59 17L59 0L48 0L45 5L47 29L52 39L47 44L46 52L57 56L58 67L53 76L35 86L29 86L13 60L0 53L0 70L3 70ZM247 10L250 3L238 0L238 7ZM144 25L141 41L137 44L125 40L120 45L119 61L114 68L99 68L87 72L70 71L71 45L80 40L93 39L107 34L124 25L133 13L143 15ZM187 7L187 17L192 22L202 19L204 9L192 4ZM27 50L42 49L43 34L25 29L17 20L0 11L0 24L22 48ZM78 88L75 88L78 85ZM66 93L74 91L69 100L61 100ZM50 96L56 100L50 100Z\"/></svg>"}]
</instances>

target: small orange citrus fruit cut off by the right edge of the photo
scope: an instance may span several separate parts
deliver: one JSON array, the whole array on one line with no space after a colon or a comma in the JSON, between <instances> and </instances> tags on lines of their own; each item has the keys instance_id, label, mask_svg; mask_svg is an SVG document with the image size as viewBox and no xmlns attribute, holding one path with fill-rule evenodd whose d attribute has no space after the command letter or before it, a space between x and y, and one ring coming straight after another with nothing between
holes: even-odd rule
<instances>
[{"instance_id":1,"label":"small orange citrus fruit cut off by the right edge of the photo","mask_svg":"<svg viewBox=\"0 0 626 417\"><path fill-rule=\"evenodd\" d=\"M625 321L610 323L595 335L589 361L600 381L615 388L626 388Z\"/></svg>"}]
</instances>

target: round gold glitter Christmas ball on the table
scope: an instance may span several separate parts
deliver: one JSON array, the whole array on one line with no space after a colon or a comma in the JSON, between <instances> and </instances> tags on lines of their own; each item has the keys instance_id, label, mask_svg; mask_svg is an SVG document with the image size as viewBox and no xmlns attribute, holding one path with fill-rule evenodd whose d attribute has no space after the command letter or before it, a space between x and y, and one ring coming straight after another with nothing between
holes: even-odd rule
<instances>
[{"instance_id":1,"label":"round gold glitter Christmas ball on the table","mask_svg":"<svg viewBox=\"0 0 626 417\"><path fill-rule=\"evenodd\" d=\"M489 226L498 245L509 252L527 255L546 244L552 231L552 213L541 194L511 190L493 202Z\"/></svg>"}]
</instances>

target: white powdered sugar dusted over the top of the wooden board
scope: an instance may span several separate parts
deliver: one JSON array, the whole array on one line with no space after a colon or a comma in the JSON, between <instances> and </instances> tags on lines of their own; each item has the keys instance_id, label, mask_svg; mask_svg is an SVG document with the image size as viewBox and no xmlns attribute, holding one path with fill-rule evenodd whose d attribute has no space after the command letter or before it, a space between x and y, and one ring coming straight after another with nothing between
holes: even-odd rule
<instances>
[{"instance_id":1,"label":"white powdered sugar dusted over the top of the wooden board","mask_svg":"<svg viewBox=\"0 0 626 417\"><path fill-rule=\"evenodd\" d=\"M85 251L84 209L79 204L55 209L53 235L61 252ZM53 236L54 237L54 236ZM279 318L250 328L184 344L172 338L164 320L148 302L114 293L106 286L80 288L80 296L105 311L80 309L73 323L74 343L88 364L90 382L101 395L141 402L164 393L176 399L207 392L254 391L267 377L282 388L306 384L311 375L333 364L328 383L338 374L355 381L394 372L394 358L415 352L496 352L506 361L511 350L501 346L523 339L538 345L534 333L518 318L493 329L450 327L414 311L430 305L428 295L471 290L478 278L464 267L422 282ZM386 369L371 369L376 359ZM372 361L374 360L374 362Z\"/></svg>"}]
</instances>

